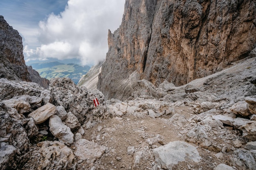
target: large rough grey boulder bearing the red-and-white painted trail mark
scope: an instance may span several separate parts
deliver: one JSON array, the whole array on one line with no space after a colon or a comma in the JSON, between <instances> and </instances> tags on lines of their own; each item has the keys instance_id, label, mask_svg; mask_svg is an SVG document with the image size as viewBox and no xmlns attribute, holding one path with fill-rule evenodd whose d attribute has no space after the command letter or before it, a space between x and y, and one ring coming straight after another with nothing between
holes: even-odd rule
<instances>
[{"instance_id":1,"label":"large rough grey boulder bearing the red-and-white painted trail mark","mask_svg":"<svg viewBox=\"0 0 256 170\"><path fill-rule=\"evenodd\" d=\"M51 79L49 90L52 95L52 104L63 106L67 112L72 112L80 124L91 128L103 118L108 118L106 102L103 94L98 90L88 90L74 84L70 78ZM99 105L94 105L94 99Z\"/></svg>"}]
</instances>

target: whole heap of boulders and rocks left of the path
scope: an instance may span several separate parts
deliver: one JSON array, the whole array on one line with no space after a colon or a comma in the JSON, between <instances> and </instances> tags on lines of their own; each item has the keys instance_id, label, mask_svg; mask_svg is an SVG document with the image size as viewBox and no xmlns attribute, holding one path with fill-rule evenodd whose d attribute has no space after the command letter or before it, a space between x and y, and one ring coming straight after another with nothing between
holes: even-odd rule
<instances>
[{"instance_id":1,"label":"whole heap of boulders and rocks left of the path","mask_svg":"<svg viewBox=\"0 0 256 170\"><path fill-rule=\"evenodd\" d=\"M32 82L0 79L0 91L0 169L20 168L22 163L29 161L26 154L33 147L31 142L38 140L42 142L38 143L41 148L35 159L44 160L38 164L39 169L75 167L76 152L65 144L74 143L74 134L84 135L83 128L91 128L109 117L102 93L80 88L69 78L53 79L49 90ZM95 98L100 102L97 108L93 102ZM54 141L45 141L47 139ZM75 147L82 147L80 144ZM94 150L86 153L91 152ZM33 169L33 166L28 167Z\"/></svg>"}]
</instances>

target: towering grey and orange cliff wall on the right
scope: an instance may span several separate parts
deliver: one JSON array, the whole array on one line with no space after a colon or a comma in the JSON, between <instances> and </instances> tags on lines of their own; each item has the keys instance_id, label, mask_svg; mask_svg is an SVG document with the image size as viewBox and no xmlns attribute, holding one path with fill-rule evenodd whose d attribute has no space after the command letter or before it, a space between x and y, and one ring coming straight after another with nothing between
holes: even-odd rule
<instances>
[{"instance_id":1,"label":"towering grey and orange cliff wall on the right","mask_svg":"<svg viewBox=\"0 0 256 170\"><path fill-rule=\"evenodd\" d=\"M180 86L247 57L256 45L256 2L126 0L98 89L127 99L137 80Z\"/></svg>"}]
</instances>

